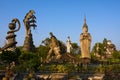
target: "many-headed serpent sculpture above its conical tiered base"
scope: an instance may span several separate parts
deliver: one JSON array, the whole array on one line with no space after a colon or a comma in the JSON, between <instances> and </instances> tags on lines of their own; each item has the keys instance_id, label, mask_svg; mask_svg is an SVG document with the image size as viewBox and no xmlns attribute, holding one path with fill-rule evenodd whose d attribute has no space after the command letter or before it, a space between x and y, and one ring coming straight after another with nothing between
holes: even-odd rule
<instances>
[{"instance_id":1,"label":"many-headed serpent sculpture above its conical tiered base","mask_svg":"<svg viewBox=\"0 0 120 80\"><path fill-rule=\"evenodd\" d=\"M34 16L34 14L35 14L34 10L30 10L26 14L26 16L25 16L25 18L23 20L24 26L25 26L25 29L26 29L26 36L29 36L29 34L31 33L31 30L30 30L31 27L33 27L34 29L36 27L36 25L35 25L35 23L36 23L36 21L35 21L36 17Z\"/></svg>"}]
</instances>

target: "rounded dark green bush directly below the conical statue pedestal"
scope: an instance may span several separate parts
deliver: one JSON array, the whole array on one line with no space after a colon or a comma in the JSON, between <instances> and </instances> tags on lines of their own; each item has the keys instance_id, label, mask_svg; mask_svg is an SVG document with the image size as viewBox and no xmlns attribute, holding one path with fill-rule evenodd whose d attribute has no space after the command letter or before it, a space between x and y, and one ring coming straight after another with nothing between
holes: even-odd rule
<instances>
[{"instance_id":1,"label":"rounded dark green bush directly below the conical statue pedestal","mask_svg":"<svg viewBox=\"0 0 120 80\"><path fill-rule=\"evenodd\" d=\"M22 52L19 56L19 65L22 66L24 70L34 69L36 71L40 66L40 58L37 53Z\"/></svg>"}]
</instances>

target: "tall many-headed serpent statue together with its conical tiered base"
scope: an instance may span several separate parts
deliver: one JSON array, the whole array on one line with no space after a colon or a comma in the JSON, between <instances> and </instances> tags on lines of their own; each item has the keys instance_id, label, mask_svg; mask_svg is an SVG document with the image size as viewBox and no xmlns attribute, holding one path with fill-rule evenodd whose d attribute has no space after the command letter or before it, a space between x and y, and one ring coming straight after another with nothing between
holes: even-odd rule
<instances>
[{"instance_id":1,"label":"tall many-headed serpent statue together with its conical tiered base","mask_svg":"<svg viewBox=\"0 0 120 80\"><path fill-rule=\"evenodd\" d=\"M30 10L23 22L26 30L26 37L23 45L23 51L28 51L28 52L34 52L35 51L35 46L33 44L33 38L32 38L32 33L31 33L31 27L35 29L36 27L36 17L34 16L35 12L33 10Z\"/></svg>"}]
</instances>

